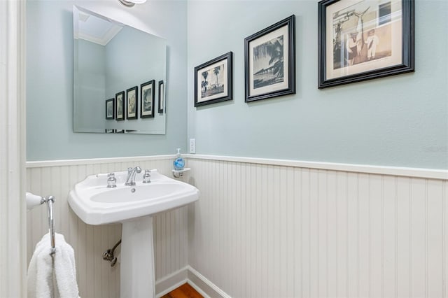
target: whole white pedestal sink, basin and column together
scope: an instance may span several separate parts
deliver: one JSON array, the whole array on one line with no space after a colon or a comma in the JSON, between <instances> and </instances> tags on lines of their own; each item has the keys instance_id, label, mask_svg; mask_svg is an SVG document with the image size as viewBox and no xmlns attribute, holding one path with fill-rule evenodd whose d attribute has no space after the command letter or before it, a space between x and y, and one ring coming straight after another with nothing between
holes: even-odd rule
<instances>
[{"instance_id":1,"label":"whole white pedestal sink, basin and column together","mask_svg":"<svg viewBox=\"0 0 448 298\"><path fill-rule=\"evenodd\" d=\"M152 215L199 199L199 190L151 170L151 183L137 176L125 185L127 171L115 173L116 187L107 187L106 173L88 176L69 193L69 205L88 225L121 222L120 297L155 297Z\"/></svg>"}]
</instances>

